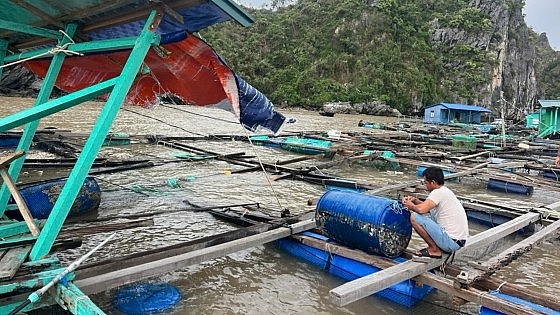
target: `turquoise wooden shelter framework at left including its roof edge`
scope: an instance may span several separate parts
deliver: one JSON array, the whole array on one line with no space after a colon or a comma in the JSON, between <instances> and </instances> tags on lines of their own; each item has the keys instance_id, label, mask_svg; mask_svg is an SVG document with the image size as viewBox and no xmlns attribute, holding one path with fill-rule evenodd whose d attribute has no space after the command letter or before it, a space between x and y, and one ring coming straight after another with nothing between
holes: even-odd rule
<instances>
[{"instance_id":1,"label":"turquoise wooden shelter framework at left including its roof edge","mask_svg":"<svg viewBox=\"0 0 560 315\"><path fill-rule=\"evenodd\" d=\"M31 147L32 139L42 118L80 105L103 94L109 93L109 97L50 216L46 220L35 220L35 224L40 229L39 235L31 235L26 222L9 220L4 216L5 210L10 207L8 200L11 192L5 184L2 185L0 189L0 239L2 240L0 241L0 314L8 314L22 305L22 302L30 299L29 297L33 295L33 292L48 284L64 270L58 259L49 253L53 249L55 239L62 229L80 187L109 134L134 79L138 73L150 72L150 69L143 62L149 49L159 45L160 35L158 35L157 29L164 14L180 20L181 16L176 14L174 8L208 2L219 7L242 26L248 26L253 22L246 12L230 0L169 0L165 3L164 1L139 0L81 0L56 1L56 5L53 5L52 2L55 1L49 3L42 0L0 2L0 11L2 11L0 12L0 77L3 74L4 66L10 63L38 56L51 58L49 69L34 106L0 118L0 132L23 126L22 137L16 151L27 152ZM118 5L138 6L138 10L130 12L125 10L126 12L122 12L119 16L121 19L117 19L117 21L145 20L144 27L138 36L80 43L75 43L72 40L74 37L80 37L79 27L88 19L88 14L99 14L105 12L105 10L110 11ZM53 16L62 18L58 20ZM80 22L73 22L74 20ZM89 27L106 25L104 23L115 23L114 20L107 19L108 22L100 21L97 25L90 25ZM37 25L45 25L46 27ZM59 30L63 30L63 32ZM39 38L37 39L37 37ZM54 40L58 48L64 47L67 51L84 54L122 49L128 49L131 52L117 77L51 99L55 82L67 54L63 51L52 51L50 48L20 51L19 48L11 46L12 42L10 40L16 43L33 43L38 40L38 44L35 46ZM14 53L14 51L18 53ZM12 180L16 181L18 179L24 159L25 155L11 160L9 167L6 165ZM40 269L41 271L32 272L31 275L28 274L23 279L20 279L20 277L17 278L19 280L15 280L13 277L21 268ZM38 301L32 301L22 311L59 304L73 314L105 314L72 283L73 278L74 274L69 273L65 276L68 281L66 284L55 285L54 292L56 294L47 294Z\"/></svg>"}]
</instances>

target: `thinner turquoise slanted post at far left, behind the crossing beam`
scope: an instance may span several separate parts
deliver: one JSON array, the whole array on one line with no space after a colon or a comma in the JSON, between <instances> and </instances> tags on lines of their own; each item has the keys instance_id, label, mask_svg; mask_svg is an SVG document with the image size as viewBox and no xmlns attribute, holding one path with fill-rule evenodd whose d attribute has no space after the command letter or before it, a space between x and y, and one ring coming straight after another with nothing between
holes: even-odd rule
<instances>
[{"instance_id":1,"label":"thinner turquoise slanted post at far left, behind the crossing beam","mask_svg":"<svg viewBox=\"0 0 560 315\"><path fill-rule=\"evenodd\" d=\"M70 37L74 36L77 27L78 25L75 23L68 24L65 30L66 34L68 34L68 36ZM60 45L64 45L66 43L69 43L70 41L71 41L70 38L64 36L59 41L59 43ZM62 63L64 62L65 57L66 54L63 53L58 53L55 56L53 56L51 64L49 66L49 70L47 71L47 75L43 80L43 85L41 86L41 90L39 91L39 95L35 100L34 106L43 104L49 100L52 90L54 88L54 83L56 81L56 78L58 77L58 73L60 72L60 68L62 67ZM33 141L33 137L35 136L35 132L39 127L39 122L40 122L39 120L36 120L28 123L25 126L17 150L24 150L25 152L29 150L29 148L31 147L31 143ZM25 156L13 161L10 164L8 173L10 174L10 177L14 180L14 182L17 181L19 177L19 173L21 172L21 168L23 167L24 161L25 161ZM0 190L0 216L4 214L4 210L6 209L6 205L8 204L9 198L10 198L10 192L6 187L6 185L3 184L2 189Z\"/></svg>"}]
</instances>

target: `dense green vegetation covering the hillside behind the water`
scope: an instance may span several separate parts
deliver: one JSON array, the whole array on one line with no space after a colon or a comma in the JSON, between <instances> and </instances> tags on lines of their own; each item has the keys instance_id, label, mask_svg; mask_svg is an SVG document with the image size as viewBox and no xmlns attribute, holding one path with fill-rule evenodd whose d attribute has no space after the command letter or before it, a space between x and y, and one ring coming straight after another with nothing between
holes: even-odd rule
<instances>
[{"instance_id":1,"label":"dense green vegetation covering the hillside behind the water","mask_svg":"<svg viewBox=\"0 0 560 315\"><path fill-rule=\"evenodd\" d=\"M275 104L379 100L409 112L475 100L492 78L491 49L434 40L445 29L492 33L487 14L466 0L299 0L250 12L250 28L222 23L200 35ZM490 38L489 46L501 40Z\"/></svg>"}]
</instances>

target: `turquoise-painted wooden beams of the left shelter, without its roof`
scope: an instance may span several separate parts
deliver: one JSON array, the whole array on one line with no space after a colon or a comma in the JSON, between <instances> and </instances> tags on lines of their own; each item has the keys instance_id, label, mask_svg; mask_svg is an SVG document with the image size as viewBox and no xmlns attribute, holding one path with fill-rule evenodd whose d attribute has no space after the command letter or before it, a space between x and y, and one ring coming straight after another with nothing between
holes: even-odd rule
<instances>
[{"instance_id":1,"label":"turquoise-painted wooden beams of the left shelter, without its roof","mask_svg":"<svg viewBox=\"0 0 560 315\"><path fill-rule=\"evenodd\" d=\"M138 38L134 41L126 41L129 47L132 48L132 51L122 69L121 74L118 77L98 83L94 86L68 94L58 99L49 100L54 87L54 83L56 81L56 78L58 77L58 73L66 57L65 54L58 53L52 58L49 70L43 82L43 86L35 102L35 106L0 119L1 131L7 131L15 127L25 126L17 150L27 151L31 146L33 136L35 135L41 118L79 105L84 101L91 100L97 96L100 96L101 94L110 93L110 96L105 103L105 106L101 110L99 117L97 118L97 121L83 148L82 153L80 154L76 162L76 165L70 172L68 181L62 189L60 197L57 199L53 207L51 215L46 220L46 222L44 222L41 228L41 233L36 238L36 240L34 240L34 237L32 236L26 237L24 236L24 234L18 235L17 239L19 240L19 242L25 241L27 239L34 240L35 242L30 246L24 247L25 250L19 251L19 257L14 258L14 261L18 261L21 264L27 256L29 256L29 260L31 261L40 261L41 259L46 258L51 251L54 241L58 236L58 233L60 232L66 217L68 216L73 201L78 195L80 187L82 186L82 183L84 182L91 168L91 165L93 164L95 157L97 156L97 153L99 152L103 144L105 137L109 133L109 129L117 116L121 104L123 103L124 98L128 93L128 90L132 85L134 78L136 77L136 74L142 68L142 62L148 52L148 49L150 49L152 45L157 45L159 43L159 35L156 34L155 30L157 29L162 14L163 12L153 10L150 13L144 29L142 30ZM42 35L51 38L51 35L54 35L53 32L50 32L49 30L40 30L36 27L30 27L21 24L15 25L16 23L6 23L6 21L0 22L2 22L0 23L0 28L3 29L17 30L19 32L27 32L30 34ZM70 40L69 37L74 35L76 29L76 24L68 24L65 29L68 37L64 36L62 38L59 38L59 45L64 45L65 43L67 43ZM56 36L60 37L60 33L56 32ZM104 42L101 46L107 49L114 49L114 47L111 47L110 42L115 43L116 46L121 46L123 43L123 41L120 40L109 41ZM81 51L99 51L100 49L100 45L98 45L98 43L96 42L82 43L81 46L83 48L83 50L81 49ZM4 49L4 54L5 51L6 49ZM22 56L19 57L21 58ZM3 59L4 60L2 60L2 63L8 58ZM18 178L23 165L23 161L24 159L20 158L11 163L9 174L12 178ZM4 185L2 187L2 190L0 190L0 214L3 214L9 197L10 192ZM21 228L20 223L12 224L15 224ZM10 229L9 225L3 226L5 226L6 230ZM14 229L15 228L13 228L12 230ZM22 231L20 230L19 232ZM14 232L12 231L11 233ZM0 244L0 246L2 245ZM14 249L12 248L9 251L11 252L13 250ZM8 253L5 253L4 255L7 255ZM52 278L54 278L58 273L60 273L59 269L37 273L34 275L36 278L25 280L24 283L18 282L12 283L11 286L5 285L3 287L0 287L0 293L7 293L11 288L13 290L15 287L17 287L18 290L21 290L22 287L37 289L38 287L41 287L51 281ZM71 280L72 275L68 275L67 279ZM93 304L91 300L89 300L89 298L85 297L84 294L71 283L66 286L57 285L56 288L58 294L56 296L50 296L50 298L54 299L54 302L57 302L60 305L73 306L74 309L69 309L72 313L104 314L103 311L95 306L95 304ZM45 302L52 303L53 301ZM0 313L7 313L5 311L9 311L15 306L17 306L17 303L13 305L5 305L4 308L0 308ZM30 308L35 307L37 307L35 303L30 306Z\"/></svg>"}]
</instances>

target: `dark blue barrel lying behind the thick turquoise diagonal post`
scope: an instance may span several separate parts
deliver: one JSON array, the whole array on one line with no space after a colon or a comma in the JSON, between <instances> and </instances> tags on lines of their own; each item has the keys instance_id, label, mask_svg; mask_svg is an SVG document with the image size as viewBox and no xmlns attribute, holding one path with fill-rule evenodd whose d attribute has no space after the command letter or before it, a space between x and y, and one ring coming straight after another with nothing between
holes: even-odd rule
<instances>
[{"instance_id":1,"label":"dark blue barrel lying behind the thick turquoise diagonal post","mask_svg":"<svg viewBox=\"0 0 560 315\"><path fill-rule=\"evenodd\" d=\"M49 217L64 184L66 184L66 180L66 178L51 179L23 186L19 189L21 197L35 219L46 219ZM97 181L93 177L86 177L68 216L76 216L97 210L100 203L101 189ZM18 210L11 210L6 212L6 214L9 217L21 219Z\"/></svg>"}]
</instances>

